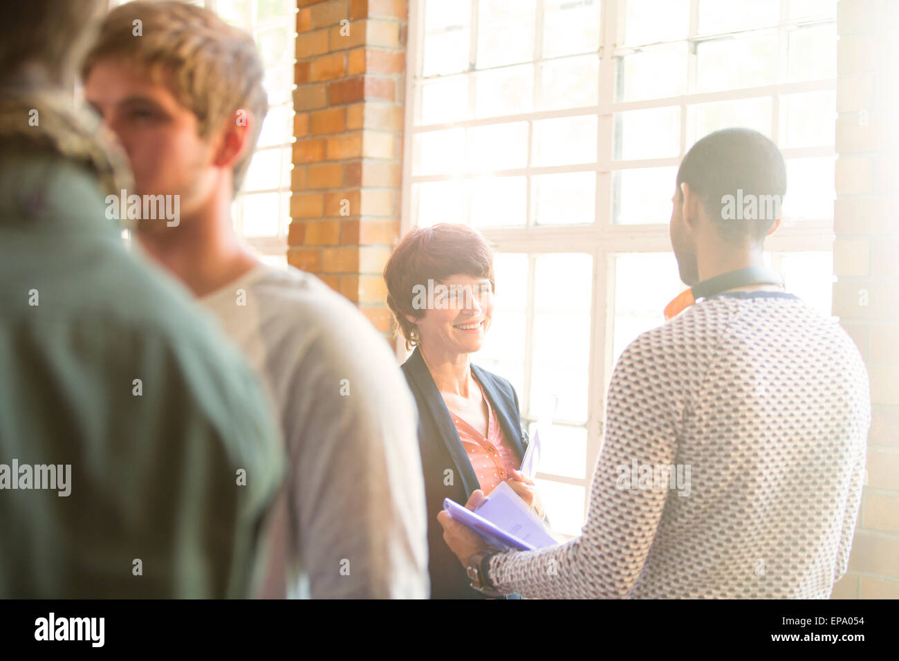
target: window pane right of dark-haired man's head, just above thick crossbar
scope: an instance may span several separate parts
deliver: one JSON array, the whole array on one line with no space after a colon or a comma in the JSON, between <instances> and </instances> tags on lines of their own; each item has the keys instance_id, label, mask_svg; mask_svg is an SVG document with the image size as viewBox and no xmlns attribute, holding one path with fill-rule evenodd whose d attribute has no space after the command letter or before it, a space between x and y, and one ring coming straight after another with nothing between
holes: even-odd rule
<instances>
[{"instance_id":1,"label":"window pane right of dark-haired man's head, just above thick crossbar","mask_svg":"<svg viewBox=\"0 0 899 661\"><path fill-rule=\"evenodd\" d=\"M833 156L787 159L784 219L832 219L836 200Z\"/></svg>"}]
</instances>

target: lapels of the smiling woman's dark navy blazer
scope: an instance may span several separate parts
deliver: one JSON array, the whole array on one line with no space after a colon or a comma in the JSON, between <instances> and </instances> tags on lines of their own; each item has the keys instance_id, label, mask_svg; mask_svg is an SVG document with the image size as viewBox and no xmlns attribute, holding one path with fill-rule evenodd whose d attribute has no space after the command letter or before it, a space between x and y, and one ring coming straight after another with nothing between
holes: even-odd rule
<instances>
[{"instance_id":1,"label":"lapels of the smiling woman's dark navy blazer","mask_svg":"<svg viewBox=\"0 0 899 661\"><path fill-rule=\"evenodd\" d=\"M431 371L424 362L422 353L415 347L415 351L409 356L405 362L408 373L415 382L415 385L421 391L424 401L427 403L428 411L441 434L441 441L446 445L449 456L456 464L458 475L462 478L462 484L465 492L471 496L475 489L480 488L475 475L475 469L471 467L465 448L462 446L462 440L458 437L456 425L452 422L452 416L449 414L449 408L443 401L440 390L431 376ZM496 412L496 418L503 427L505 437L512 443L512 449L519 460L524 456L524 448L521 444L521 423L518 420L519 412L511 410L515 408L514 399L512 397L503 397L498 388L500 380L495 374L483 370L477 365L471 365L471 372L478 383L484 389L485 397L493 406ZM511 393L510 393L511 395ZM419 412L422 415L423 412ZM462 505L465 505L464 503Z\"/></svg>"}]
</instances>

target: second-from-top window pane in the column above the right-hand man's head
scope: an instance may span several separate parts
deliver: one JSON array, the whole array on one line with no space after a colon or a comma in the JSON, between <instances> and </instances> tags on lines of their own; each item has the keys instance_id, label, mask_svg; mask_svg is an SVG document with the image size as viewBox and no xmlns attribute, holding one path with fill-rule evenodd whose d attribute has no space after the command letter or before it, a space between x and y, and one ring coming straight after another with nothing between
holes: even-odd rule
<instances>
[{"instance_id":1,"label":"second-from-top window pane in the column above the right-hand man's head","mask_svg":"<svg viewBox=\"0 0 899 661\"><path fill-rule=\"evenodd\" d=\"M778 39L774 32L703 41L696 52L700 92L777 82Z\"/></svg>"}]
</instances>

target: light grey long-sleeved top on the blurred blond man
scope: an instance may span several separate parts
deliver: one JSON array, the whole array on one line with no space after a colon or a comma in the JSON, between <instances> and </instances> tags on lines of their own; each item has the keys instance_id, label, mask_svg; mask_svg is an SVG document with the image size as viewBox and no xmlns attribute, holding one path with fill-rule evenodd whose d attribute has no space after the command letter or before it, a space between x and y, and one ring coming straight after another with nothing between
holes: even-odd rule
<instances>
[{"instance_id":1,"label":"light grey long-sleeved top on the blurred blond man","mask_svg":"<svg viewBox=\"0 0 899 661\"><path fill-rule=\"evenodd\" d=\"M262 373L289 457L261 596L427 597L417 414L384 338L292 267L260 264L201 302Z\"/></svg>"}]
</instances>

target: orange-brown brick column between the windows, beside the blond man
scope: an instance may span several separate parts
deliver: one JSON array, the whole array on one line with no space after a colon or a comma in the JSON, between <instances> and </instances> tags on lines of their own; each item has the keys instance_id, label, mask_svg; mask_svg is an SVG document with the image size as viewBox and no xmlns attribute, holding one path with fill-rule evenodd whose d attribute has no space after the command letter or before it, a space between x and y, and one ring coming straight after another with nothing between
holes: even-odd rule
<instances>
[{"instance_id":1,"label":"orange-brown brick column between the windows, beside the blond man","mask_svg":"<svg viewBox=\"0 0 899 661\"><path fill-rule=\"evenodd\" d=\"M389 329L408 0L298 0L288 262Z\"/></svg>"}]
</instances>

